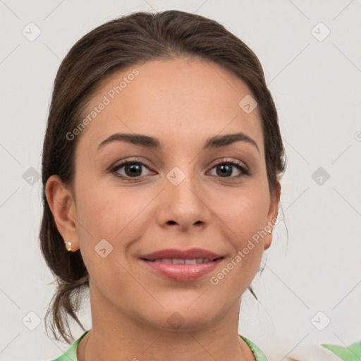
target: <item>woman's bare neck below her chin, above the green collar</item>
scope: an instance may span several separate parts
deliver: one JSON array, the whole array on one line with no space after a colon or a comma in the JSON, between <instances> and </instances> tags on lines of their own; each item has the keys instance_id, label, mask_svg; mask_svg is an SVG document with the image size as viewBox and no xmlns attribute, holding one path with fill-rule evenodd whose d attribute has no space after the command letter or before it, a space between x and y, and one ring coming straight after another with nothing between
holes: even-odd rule
<instances>
[{"instance_id":1,"label":"woman's bare neck below her chin, above the green collar","mask_svg":"<svg viewBox=\"0 0 361 361\"><path fill-rule=\"evenodd\" d=\"M238 336L240 300L212 324L169 331L141 322L92 291L92 329L78 345L78 361L255 360Z\"/></svg>"}]
</instances>

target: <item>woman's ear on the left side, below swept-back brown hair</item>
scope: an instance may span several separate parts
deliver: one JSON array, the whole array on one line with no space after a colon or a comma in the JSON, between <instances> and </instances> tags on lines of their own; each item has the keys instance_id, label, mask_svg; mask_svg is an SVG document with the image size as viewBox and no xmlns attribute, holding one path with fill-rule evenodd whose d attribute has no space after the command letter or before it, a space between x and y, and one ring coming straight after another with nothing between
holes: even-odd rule
<instances>
[{"instance_id":1,"label":"woman's ear on the left side, below swept-back brown hair","mask_svg":"<svg viewBox=\"0 0 361 361\"><path fill-rule=\"evenodd\" d=\"M70 188L65 185L59 176L50 176L45 185L47 202L54 216L59 233L63 237L64 247L71 242L71 251L79 249L77 232L78 219L75 201ZM66 243L66 244L65 244Z\"/></svg>"}]
</instances>

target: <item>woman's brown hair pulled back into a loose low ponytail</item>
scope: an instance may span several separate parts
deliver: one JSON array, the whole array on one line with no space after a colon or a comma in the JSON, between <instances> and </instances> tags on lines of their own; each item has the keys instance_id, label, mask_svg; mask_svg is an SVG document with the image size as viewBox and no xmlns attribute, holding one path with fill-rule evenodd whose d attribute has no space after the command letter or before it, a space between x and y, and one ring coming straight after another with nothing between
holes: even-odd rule
<instances>
[{"instance_id":1,"label":"woman's brown hair pulled back into a loose low ponytail","mask_svg":"<svg viewBox=\"0 0 361 361\"><path fill-rule=\"evenodd\" d=\"M278 116L261 63L244 42L214 20L173 10L132 13L87 33L73 45L56 74L42 151L44 214L39 238L57 283L45 318L51 316L51 330L58 340L56 331L68 343L73 338L68 316L84 330L76 312L89 280L80 251L66 250L47 203L45 184L57 174L63 183L73 185L79 137L70 141L66 134L79 125L87 102L105 78L140 61L177 56L214 62L250 88L262 116L269 190L271 194L276 191L276 178L286 164ZM249 289L257 299L251 286Z\"/></svg>"}]
</instances>

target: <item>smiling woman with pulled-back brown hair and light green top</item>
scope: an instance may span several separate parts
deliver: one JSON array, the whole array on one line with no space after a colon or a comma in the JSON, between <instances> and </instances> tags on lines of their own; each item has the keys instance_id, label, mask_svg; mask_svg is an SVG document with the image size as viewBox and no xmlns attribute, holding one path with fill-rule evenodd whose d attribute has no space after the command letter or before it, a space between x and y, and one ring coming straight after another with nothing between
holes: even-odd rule
<instances>
[{"instance_id":1,"label":"smiling woman with pulled-back brown hair and light green top","mask_svg":"<svg viewBox=\"0 0 361 361\"><path fill-rule=\"evenodd\" d=\"M285 169L257 56L214 20L133 13L61 63L44 138L42 252L68 319L57 360L266 360L238 334Z\"/></svg>"}]
</instances>

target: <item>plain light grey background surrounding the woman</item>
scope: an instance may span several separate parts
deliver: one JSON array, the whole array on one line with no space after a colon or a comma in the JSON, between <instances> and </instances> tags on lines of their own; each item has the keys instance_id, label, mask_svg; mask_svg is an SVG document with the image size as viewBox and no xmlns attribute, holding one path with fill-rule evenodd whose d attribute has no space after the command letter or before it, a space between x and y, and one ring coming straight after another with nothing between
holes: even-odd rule
<instances>
[{"instance_id":1,"label":"plain light grey background surrounding the woman","mask_svg":"<svg viewBox=\"0 0 361 361\"><path fill-rule=\"evenodd\" d=\"M51 360L69 347L44 332L54 285L37 238L36 171L61 59L108 20L171 8L218 20L243 39L259 56L279 111L285 222L253 281L260 302L243 296L240 334L269 361L336 361L321 343L361 339L360 0L0 0L0 360ZM41 34L30 41L36 27ZM86 306L80 317L89 329Z\"/></svg>"}]
</instances>

